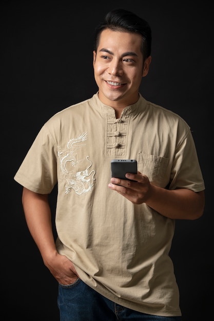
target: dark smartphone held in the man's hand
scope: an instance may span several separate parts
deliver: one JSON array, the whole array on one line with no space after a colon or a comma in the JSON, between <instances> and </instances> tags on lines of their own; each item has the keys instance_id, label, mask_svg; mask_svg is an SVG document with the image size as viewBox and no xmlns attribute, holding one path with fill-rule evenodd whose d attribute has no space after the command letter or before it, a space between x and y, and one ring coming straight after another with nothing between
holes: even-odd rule
<instances>
[{"instance_id":1,"label":"dark smartphone held in the man's hand","mask_svg":"<svg viewBox=\"0 0 214 321\"><path fill-rule=\"evenodd\" d=\"M111 177L121 179L126 178L126 173L138 173L138 163L136 159L112 159L111 160Z\"/></svg>"}]
</instances>

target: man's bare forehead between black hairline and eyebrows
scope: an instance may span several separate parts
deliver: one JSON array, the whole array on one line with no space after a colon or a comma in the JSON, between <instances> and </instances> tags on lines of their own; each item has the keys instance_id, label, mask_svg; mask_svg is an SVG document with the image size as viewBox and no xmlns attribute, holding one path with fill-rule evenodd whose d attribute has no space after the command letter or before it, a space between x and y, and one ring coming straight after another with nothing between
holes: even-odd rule
<instances>
[{"instance_id":1,"label":"man's bare forehead between black hairline and eyebrows","mask_svg":"<svg viewBox=\"0 0 214 321\"><path fill-rule=\"evenodd\" d=\"M98 51L102 48L109 51L141 52L142 37L138 33L105 29L101 32Z\"/></svg>"}]
</instances>

